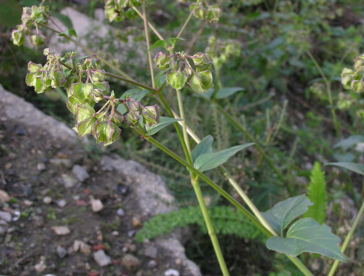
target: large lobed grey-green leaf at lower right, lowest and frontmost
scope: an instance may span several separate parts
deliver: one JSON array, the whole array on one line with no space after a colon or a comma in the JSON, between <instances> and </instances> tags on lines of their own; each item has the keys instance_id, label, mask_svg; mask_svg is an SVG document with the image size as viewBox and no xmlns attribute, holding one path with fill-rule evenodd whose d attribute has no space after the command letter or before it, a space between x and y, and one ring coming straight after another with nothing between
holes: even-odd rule
<instances>
[{"instance_id":1,"label":"large lobed grey-green leaf at lower right, lowest and frontmost","mask_svg":"<svg viewBox=\"0 0 364 276\"><path fill-rule=\"evenodd\" d=\"M304 218L292 224L286 238L271 237L266 246L289 256L311 252L348 263L347 257L337 245L339 242L340 238L331 233L330 227L325 224L320 225L311 218Z\"/></svg>"}]
</instances>

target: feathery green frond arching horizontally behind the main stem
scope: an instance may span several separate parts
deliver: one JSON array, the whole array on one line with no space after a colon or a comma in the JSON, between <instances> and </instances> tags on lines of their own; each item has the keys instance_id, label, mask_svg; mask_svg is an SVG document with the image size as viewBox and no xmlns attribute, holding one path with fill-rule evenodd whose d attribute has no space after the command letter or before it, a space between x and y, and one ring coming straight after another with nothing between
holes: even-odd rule
<instances>
[{"instance_id":1,"label":"feathery green frond arching horizontally behind the main stem","mask_svg":"<svg viewBox=\"0 0 364 276\"><path fill-rule=\"evenodd\" d=\"M258 228L252 224L241 212L232 207L216 206L209 209L209 215L216 234L234 234L245 239L262 237ZM198 206L189 206L172 211L169 214L159 214L144 223L143 228L135 236L137 242L152 239L162 234L169 234L175 227L185 227L188 224L198 224L201 231L207 233L202 212Z\"/></svg>"}]
</instances>

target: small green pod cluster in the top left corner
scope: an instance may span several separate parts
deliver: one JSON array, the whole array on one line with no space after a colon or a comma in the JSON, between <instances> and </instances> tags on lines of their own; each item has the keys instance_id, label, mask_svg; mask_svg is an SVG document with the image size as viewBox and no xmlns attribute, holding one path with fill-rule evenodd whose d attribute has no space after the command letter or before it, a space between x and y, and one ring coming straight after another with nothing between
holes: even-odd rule
<instances>
[{"instance_id":1,"label":"small green pod cluster in the top left corner","mask_svg":"<svg viewBox=\"0 0 364 276\"><path fill-rule=\"evenodd\" d=\"M36 34L30 37L32 45L41 46L46 42L46 37L39 33L38 24L47 24L46 15L49 13L49 7L33 5L32 7L24 7L21 15L21 24L16 25L17 29L13 30L11 36L15 45L21 45L25 42L25 35L29 35L33 26L36 28Z\"/></svg>"}]
</instances>

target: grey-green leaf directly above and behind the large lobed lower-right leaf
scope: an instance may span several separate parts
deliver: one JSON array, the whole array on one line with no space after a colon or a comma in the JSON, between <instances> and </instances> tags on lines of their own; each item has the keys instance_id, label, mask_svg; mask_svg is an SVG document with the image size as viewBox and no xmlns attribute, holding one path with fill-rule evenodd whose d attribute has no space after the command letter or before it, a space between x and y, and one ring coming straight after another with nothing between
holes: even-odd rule
<instances>
[{"instance_id":1,"label":"grey-green leaf directly above and behind the large lobed lower-right leaf","mask_svg":"<svg viewBox=\"0 0 364 276\"><path fill-rule=\"evenodd\" d=\"M294 219L304 214L312 202L305 195L298 195L278 202L273 208L262 212L264 218L272 226L273 230L283 235L283 230Z\"/></svg>"}]
</instances>

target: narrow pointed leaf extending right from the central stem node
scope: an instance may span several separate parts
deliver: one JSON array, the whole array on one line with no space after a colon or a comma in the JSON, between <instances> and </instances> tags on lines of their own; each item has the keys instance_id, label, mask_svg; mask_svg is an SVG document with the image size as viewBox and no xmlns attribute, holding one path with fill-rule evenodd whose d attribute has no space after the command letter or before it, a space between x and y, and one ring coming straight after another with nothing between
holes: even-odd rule
<instances>
[{"instance_id":1,"label":"narrow pointed leaf extending right from the central stem node","mask_svg":"<svg viewBox=\"0 0 364 276\"><path fill-rule=\"evenodd\" d=\"M254 143L246 143L244 145L238 145L230 147L229 149L218 151L217 153L205 153L199 155L193 166L199 171L211 170L227 161L230 157L236 154L238 151L252 146Z\"/></svg>"}]
</instances>

